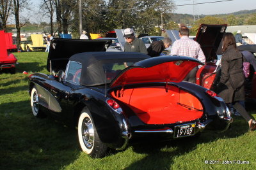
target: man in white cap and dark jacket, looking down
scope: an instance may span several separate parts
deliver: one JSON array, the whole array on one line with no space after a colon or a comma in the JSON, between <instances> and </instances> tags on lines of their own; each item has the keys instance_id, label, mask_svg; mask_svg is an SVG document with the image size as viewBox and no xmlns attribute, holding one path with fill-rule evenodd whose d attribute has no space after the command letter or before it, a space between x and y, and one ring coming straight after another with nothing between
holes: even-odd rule
<instances>
[{"instance_id":1,"label":"man in white cap and dark jacket, looking down","mask_svg":"<svg viewBox=\"0 0 256 170\"><path fill-rule=\"evenodd\" d=\"M134 31L131 28L124 30L124 51L125 52L141 52L148 54L147 48L141 39L134 36Z\"/></svg>"}]
</instances>

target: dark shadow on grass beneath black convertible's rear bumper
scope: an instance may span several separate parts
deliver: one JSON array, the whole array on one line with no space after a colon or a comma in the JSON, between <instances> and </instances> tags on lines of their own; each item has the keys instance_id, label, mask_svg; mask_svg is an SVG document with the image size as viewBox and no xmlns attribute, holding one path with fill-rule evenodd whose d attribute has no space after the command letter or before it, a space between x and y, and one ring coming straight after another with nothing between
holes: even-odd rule
<instances>
[{"instance_id":1,"label":"dark shadow on grass beneath black convertible's rear bumper","mask_svg":"<svg viewBox=\"0 0 256 170\"><path fill-rule=\"evenodd\" d=\"M177 155L185 155L195 150L196 146L201 143L211 143L218 139L237 138L248 131L247 122L239 117L230 126L230 128L223 133L216 133L214 131L204 132L200 136L191 136L188 138L180 138L172 141L144 141L136 145L132 145L134 152L147 154L141 160L132 163L126 170L134 169L172 169L174 158ZM186 162L184 162L186 163Z\"/></svg>"}]
</instances>

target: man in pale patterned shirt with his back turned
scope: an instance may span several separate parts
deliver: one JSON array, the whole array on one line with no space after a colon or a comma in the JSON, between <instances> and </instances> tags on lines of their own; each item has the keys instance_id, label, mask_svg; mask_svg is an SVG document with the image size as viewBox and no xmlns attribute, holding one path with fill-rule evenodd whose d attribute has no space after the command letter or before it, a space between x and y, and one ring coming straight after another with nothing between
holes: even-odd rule
<instances>
[{"instance_id":1,"label":"man in pale patterned shirt with his back turned","mask_svg":"<svg viewBox=\"0 0 256 170\"><path fill-rule=\"evenodd\" d=\"M180 55L193 57L205 63L205 55L200 45L193 39L188 38L189 29L186 26L180 27L179 30L180 39L176 40L172 45L171 55ZM189 81L191 83L196 82L196 71L198 67L193 68L189 74L184 78L184 81Z\"/></svg>"}]
</instances>

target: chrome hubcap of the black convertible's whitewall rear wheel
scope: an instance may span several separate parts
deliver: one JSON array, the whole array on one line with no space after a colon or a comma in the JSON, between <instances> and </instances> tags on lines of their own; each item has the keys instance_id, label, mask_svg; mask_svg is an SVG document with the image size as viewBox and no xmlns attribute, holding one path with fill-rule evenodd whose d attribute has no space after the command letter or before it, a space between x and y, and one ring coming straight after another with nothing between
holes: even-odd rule
<instances>
[{"instance_id":1,"label":"chrome hubcap of the black convertible's whitewall rear wheel","mask_svg":"<svg viewBox=\"0 0 256 170\"><path fill-rule=\"evenodd\" d=\"M88 117L83 120L82 137L86 148L92 148L94 142L94 129L92 121Z\"/></svg>"}]
</instances>

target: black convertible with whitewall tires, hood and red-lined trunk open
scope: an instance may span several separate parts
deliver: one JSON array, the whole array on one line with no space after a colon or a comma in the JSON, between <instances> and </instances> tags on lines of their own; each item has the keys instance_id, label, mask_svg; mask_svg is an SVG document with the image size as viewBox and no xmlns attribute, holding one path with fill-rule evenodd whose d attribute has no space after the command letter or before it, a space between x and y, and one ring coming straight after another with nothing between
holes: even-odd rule
<instances>
[{"instance_id":1,"label":"black convertible with whitewall tires, hood and red-lined trunk open","mask_svg":"<svg viewBox=\"0 0 256 170\"><path fill-rule=\"evenodd\" d=\"M108 147L122 150L144 135L173 139L227 129L232 118L223 99L182 81L202 64L198 60L104 52L106 43L52 40L47 61L52 74L29 76L35 117L48 114L76 125L79 144L91 157L103 157Z\"/></svg>"}]
</instances>

